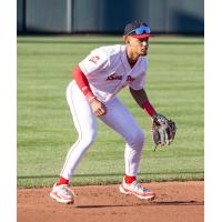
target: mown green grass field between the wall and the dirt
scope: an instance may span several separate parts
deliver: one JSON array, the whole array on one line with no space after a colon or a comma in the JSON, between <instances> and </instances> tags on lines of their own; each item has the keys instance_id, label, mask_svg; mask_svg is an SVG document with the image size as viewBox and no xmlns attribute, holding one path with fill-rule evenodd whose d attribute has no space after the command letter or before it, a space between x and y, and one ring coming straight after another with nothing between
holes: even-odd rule
<instances>
[{"instance_id":1,"label":"mown green grass field between the wall and the dirt","mask_svg":"<svg viewBox=\"0 0 222 222\"><path fill-rule=\"evenodd\" d=\"M18 37L18 186L52 185L77 139L65 88L71 70L90 50L121 37ZM145 134L141 181L202 180L203 38L150 41L147 92L160 113L178 123L174 143L152 151L150 119L124 89L119 98ZM98 140L72 184L117 183L124 174L124 141L99 122Z\"/></svg>"}]
</instances>

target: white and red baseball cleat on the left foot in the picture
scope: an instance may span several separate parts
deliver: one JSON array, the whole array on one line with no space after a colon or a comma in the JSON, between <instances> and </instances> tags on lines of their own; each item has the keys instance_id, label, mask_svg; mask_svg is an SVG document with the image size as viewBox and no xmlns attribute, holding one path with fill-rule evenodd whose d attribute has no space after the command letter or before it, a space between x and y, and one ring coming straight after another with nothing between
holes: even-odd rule
<instances>
[{"instance_id":1,"label":"white and red baseball cleat on the left foot in the picture","mask_svg":"<svg viewBox=\"0 0 222 222\"><path fill-rule=\"evenodd\" d=\"M59 203L73 203L74 193L67 184L53 185L50 196Z\"/></svg>"}]
</instances>

